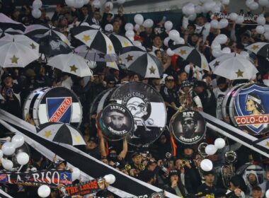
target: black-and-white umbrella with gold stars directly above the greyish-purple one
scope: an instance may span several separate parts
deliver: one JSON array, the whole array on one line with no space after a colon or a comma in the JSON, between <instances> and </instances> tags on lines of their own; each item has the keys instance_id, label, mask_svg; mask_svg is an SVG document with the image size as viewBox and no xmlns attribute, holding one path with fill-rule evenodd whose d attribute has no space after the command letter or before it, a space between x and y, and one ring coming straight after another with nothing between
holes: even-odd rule
<instances>
[{"instance_id":1,"label":"black-and-white umbrella with gold stars directly above the greyish-purple one","mask_svg":"<svg viewBox=\"0 0 269 198\"><path fill-rule=\"evenodd\" d=\"M71 28L70 31L74 37L84 42L90 49L98 50L103 54L115 54L113 43L101 30L80 25L79 27Z\"/></svg>"}]
</instances>

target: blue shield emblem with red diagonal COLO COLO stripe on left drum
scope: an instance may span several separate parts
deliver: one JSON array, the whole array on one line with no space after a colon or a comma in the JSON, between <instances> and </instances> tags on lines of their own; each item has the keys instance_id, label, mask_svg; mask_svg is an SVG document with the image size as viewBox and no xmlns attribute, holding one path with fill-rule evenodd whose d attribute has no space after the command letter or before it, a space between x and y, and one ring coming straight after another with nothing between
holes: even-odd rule
<instances>
[{"instance_id":1,"label":"blue shield emblem with red diagonal COLO COLO stripe on left drum","mask_svg":"<svg viewBox=\"0 0 269 198\"><path fill-rule=\"evenodd\" d=\"M46 98L47 118L49 122L70 123L72 98Z\"/></svg>"}]
</instances>

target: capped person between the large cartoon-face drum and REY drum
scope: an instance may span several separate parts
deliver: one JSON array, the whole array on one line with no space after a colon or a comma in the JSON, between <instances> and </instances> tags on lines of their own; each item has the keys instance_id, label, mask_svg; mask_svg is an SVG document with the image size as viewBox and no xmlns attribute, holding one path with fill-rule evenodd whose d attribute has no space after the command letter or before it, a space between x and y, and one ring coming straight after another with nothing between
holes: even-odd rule
<instances>
[{"instance_id":1,"label":"capped person between the large cartoon-face drum and REY drum","mask_svg":"<svg viewBox=\"0 0 269 198\"><path fill-rule=\"evenodd\" d=\"M167 122L171 119L171 117L176 113L178 107L181 104L178 101L178 93L176 92L175 88L175 81L173 76L166 76L164 79L165 84L161 87L161 96L164 98L164 102L167 107Z\"/></svg>"}]
</instances>

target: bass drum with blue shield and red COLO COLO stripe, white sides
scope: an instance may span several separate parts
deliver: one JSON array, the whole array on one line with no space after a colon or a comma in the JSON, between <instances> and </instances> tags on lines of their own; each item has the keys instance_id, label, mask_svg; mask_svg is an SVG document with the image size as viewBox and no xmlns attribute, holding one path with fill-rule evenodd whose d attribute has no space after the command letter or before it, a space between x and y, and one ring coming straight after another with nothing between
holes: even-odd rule
<instances>
[{"instance_id":1,"label":"bass drum with blue shield and red COLO COLO stripe, white sides","mask_svg":"<svg viewBox=\"0 0 269 198\"><path fill-rule=\"evenodd\" d=\"M38 88L25 100L23 118L32 118L35 126L46 122L63 122L79 127L82 107L79 98L68 88Z\"/></svg>"}]
</instances>

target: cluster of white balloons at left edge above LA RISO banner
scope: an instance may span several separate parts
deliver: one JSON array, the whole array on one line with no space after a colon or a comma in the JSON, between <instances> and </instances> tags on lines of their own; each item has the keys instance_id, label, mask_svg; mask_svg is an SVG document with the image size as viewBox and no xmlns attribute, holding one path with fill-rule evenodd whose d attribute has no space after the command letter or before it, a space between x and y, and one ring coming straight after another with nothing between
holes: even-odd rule
<instances>
[{"instance_id":1,"label":"cluster of white balloons at left edge above LA RISO banner","mask_svg":"<svg viewBox=\"0 0 269 198\"><path fill-rule=\"evenodd\" d=\"M13 161L3 158L3 156L12 156L16 148L23 146L24 138L20 134L16 134L10 141L6 141L0 150L1 163L6 170L13 170ZM16 161L19 165L26 165L29 161L29 155L25 152L20 152L16 155Z\"/></svg>"}]
</instances>

